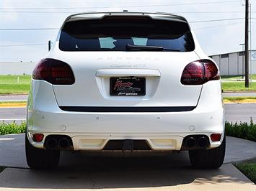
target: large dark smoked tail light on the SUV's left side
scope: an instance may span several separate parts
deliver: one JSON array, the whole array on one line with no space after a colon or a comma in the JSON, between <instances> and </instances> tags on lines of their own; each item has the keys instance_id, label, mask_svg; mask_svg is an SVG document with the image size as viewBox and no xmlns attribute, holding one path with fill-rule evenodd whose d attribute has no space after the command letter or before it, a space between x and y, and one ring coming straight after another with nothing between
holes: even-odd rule
<instances>
[{"instance_id":1,"label":"large dark smoked tail light on the SUV's left side","mask_svg":"<svg viewBox=\"0 0 256 191\"><path fill-rule=\"evenodd\" d=\"M71 85L75 82L71 67L66 62L52 58L41 60L33 70L32 78L54 85Z\"/></svg>"}]
</instances>

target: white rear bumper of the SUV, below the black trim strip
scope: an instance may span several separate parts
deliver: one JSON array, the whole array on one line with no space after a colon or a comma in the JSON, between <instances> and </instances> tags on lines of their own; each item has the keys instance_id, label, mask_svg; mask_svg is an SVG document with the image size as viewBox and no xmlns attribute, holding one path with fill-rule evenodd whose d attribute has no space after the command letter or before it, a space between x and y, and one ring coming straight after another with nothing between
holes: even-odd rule
<instances>
[{"instance_id":1,"label":"white rear bumper of the SUV, below the black trim strip","mask_svg":"<svg viewBox=\"0 0 256 191\"><path fill-rule=\"evenodd\" d=\"M108 113L63 111L52 86L40 82L40 88L30 92L27 106L29 140L43 148L45 138L36 143L30 134L63 134L71 137L74 150L100 150L109 140L140 139L146 140L153 150L180 150L187 135L223 134L224 108L218 87L219 81L206 83L198 106L192 111ZM210 147L219 146L221 141L210 140Z\"/></svg>"}]
</instances>

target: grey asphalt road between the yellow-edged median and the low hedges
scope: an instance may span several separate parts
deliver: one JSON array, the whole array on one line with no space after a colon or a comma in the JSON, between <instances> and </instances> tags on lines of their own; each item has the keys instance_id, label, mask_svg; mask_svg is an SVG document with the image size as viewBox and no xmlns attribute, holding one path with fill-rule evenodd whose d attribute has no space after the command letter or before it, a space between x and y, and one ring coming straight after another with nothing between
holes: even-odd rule
<instances>
[{"instance_id":1,"label":"grey asphalt road between the yellow-edged median and the low hedges","mask_svg":"<svg viewBox=\"0 0 256 191\"><path fill-rule=\"evenodd\" d=\"M244 121L250 122L252 117L256 121L256 103L234 103L225 104L226 121ZM12 119L25 120L25 108L0 108L0 121L9 121Z\"/></svg>"}]
</instances>

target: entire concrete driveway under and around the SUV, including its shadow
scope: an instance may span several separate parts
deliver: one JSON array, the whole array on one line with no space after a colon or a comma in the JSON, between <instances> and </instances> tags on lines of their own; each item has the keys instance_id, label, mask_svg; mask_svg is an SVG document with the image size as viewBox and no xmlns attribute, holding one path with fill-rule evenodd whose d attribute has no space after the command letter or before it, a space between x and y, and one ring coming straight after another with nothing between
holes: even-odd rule
<instances>
[{"instance_id":1,"label":"entire concrete driveway under and around the SUV, including its shadow","mask_svg":"<svg viewBox=\"0 0 256 191\"><path fill-rule=\"evenodd\" d=\"M0 190L253 190L231 163L256 156L256 143L227 137L220 169L190 167L187 152L155 157L99 157L62 152L58 170L34 171L25 162L24 134L0 136Z\"/></svg>"}]
</instances>

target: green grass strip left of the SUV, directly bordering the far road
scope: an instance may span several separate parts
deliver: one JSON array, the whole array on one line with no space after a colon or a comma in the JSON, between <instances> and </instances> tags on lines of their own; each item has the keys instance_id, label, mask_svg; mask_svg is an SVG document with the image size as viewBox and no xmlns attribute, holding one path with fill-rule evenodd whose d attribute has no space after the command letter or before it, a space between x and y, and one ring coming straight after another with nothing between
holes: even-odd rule
<instances>
[{"instance_id":1,"label":"green grass strip left of the SUV, directly bordering the far road","mask_svg":"<svg viewBox=\"0 0 256 191\"><path fill-rule=\"evenodd\" d=\"M30 83L0 83L0 94L28 93Z\"/></svg>"}]
</instances>

